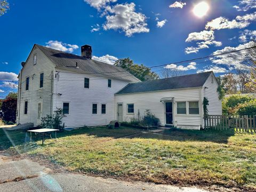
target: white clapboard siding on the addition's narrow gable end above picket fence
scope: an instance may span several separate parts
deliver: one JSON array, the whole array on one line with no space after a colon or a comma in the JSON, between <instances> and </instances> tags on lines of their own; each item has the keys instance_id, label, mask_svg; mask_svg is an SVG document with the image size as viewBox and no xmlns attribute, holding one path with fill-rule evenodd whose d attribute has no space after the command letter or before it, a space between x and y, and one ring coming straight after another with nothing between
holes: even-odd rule
<instances>
[{"instance_id":1,"label":"white clapboard siding on the addition's narrow gable end above picket fence","mask_svg":"<svg viewBox=\"0 0 256 192\"><path fill-rule=\"evenodd\" d=\"M209 115L222 115L222 105L221 100L219 100L218 83L211 74L203 86L203 95L209 100Z\"/></svg>"}]
</instances>

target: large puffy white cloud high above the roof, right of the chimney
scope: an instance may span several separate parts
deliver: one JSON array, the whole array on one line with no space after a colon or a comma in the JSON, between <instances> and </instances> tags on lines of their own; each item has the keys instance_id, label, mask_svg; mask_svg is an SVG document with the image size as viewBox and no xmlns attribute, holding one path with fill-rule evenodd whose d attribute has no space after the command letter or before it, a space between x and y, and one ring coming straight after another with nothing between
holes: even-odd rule
<instances>
[{"instance_id":1,"label":"large puffy white cloud high above the roof, right of the chimney","mask_svg":"<svg viewBox=\"0 0 256 192\"><path fill-rule=\"evenodd\" d=\"M142 13L135 12L134 3L116 4L106 7L108 15L105 30L114 29L124 31L125 35L131 37L135 33L148 33L146 19Z\"/></svg>"}]
</instances>

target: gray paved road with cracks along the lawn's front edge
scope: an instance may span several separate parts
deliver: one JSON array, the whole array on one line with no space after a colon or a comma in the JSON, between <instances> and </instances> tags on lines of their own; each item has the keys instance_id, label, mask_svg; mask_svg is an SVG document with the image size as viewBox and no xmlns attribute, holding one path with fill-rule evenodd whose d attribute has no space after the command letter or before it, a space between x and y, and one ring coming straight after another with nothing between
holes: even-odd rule
<instances>
[{"instance_id":1,"label":"gray paved road with cracks along the lawn's front edge","mask_svg":"<svg viewBox=\"0 0 256 192\"><path fill-rule=\"evenodd\" d=\"M28 159L12 161L0 155L0 191L172 191L207 192L197 188L179 188L144 182L126 182L115 179L89 177L82 174L54 173L51 169Z\"/></svg>"}]
</instances>

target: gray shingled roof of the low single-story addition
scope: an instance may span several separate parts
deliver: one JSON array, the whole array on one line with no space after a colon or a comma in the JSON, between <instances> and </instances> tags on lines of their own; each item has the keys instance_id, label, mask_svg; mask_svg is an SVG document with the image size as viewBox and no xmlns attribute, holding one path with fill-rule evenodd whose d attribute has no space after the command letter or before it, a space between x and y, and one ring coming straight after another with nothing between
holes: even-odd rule
<instances>
[{"instance_id":1,"label":"gray shingled roof of the low single-story addition","mask_svg":"<svg viewBox=\"0 0 256 192\"><path fill-rule=\"evenodd\" d=\"M201 87L204 85L206 79L211 75L211 73L212 71L179 77L157 79L147 82L129 83L116 94Z\"/></svg>"}]
</instances>

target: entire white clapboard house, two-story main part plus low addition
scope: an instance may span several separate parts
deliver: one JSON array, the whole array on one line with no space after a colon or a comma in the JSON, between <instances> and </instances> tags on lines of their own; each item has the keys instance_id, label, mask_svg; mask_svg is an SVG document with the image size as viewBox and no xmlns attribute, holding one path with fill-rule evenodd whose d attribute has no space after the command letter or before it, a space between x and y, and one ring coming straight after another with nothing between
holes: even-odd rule
<instances>
[{"instance_id":1,"label":"entire white clapboard house, two-story main part plus low addition","mask_svg":"<svg viewBox=\"0 0 256 192\"><path fill-rule=\"evenodd\" d=\"M209 115L222 114L212 71L140 82L123 68L93 60L89 45L80 56L35 44L21 65L17 124L37 126L57 108L66 127L129 122L149 110L163 126L199 129L204 97Z\"/></svg>"}]
</instances>

